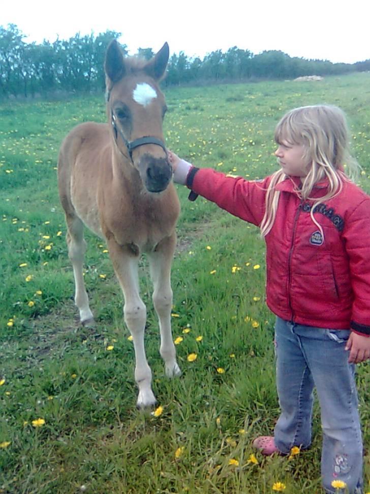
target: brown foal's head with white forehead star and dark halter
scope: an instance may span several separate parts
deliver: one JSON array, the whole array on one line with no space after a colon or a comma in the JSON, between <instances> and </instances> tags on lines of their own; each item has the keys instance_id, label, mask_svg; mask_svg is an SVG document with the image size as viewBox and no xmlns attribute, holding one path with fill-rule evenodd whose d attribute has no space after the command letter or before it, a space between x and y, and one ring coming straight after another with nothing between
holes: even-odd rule
<instances>
[{"instance_id":1,"label":"brown foal's head with white forehead star and dark halter","mask_svg":"<svg viewBox=\"0 0 370 494\"><path fill-rule=\"evenodd\" d=\"M163 139L166 102L159 89L169 57L165 43L149 61L124 57L116 40L105 58L107 114L121 157L138 171L146 190L159 193L171 181Z\"/></svg>"}]
</instances>

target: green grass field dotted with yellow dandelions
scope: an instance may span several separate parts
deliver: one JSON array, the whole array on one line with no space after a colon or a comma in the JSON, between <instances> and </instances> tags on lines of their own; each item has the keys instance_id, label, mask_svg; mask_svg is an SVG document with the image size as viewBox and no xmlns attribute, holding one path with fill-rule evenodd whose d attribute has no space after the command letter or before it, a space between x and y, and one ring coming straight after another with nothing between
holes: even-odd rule
<instances>
[{"instance_id":1,"label":"green grass field dotted with yellow dandelions","mask_svg":"<svg viewBox=\"0 0 370 494\"><path fill-rule=\"evenodd\" d=\"M337 104L363 167L359 184L370 193L368 73L171 89L166 99L170 149L251 179L276 169L273 129L288 109ZM251 448L279 416L259 231L202 198L189 202L178 188L172 320L182 376L164 375L143 259L146 349L160 408L139 411L120 289L106 246L88 233L85 281L98 324L78 325L56 188L61 140L77 123L105 121L103 97L9 102L0 117L0 492L265 494L281 482L287 494L320 493L317 405L310 451L263 458ZM368 363L359 365L368 491L369 378Z\"/></svg>"}]
</instances>

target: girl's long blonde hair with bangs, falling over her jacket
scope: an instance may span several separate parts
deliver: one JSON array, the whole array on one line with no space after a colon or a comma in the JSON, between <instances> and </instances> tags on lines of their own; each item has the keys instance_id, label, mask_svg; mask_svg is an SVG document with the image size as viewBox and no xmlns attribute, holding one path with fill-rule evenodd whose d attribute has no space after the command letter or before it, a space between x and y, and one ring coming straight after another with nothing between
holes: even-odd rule
<instances>
[{"instance_id":1,"label":"girl's long blonde hair with bangs, falling over her jacket","mask_svg":"<svg viewBox=\"0 0 370 494\"><path fill-rule=\"evenodd\" d=\"M314 217L315 207L339 194L343 182L354 177L359 169L359 164L349 151L349 131L344 113L337 106L331 105L295 108L277 124L275 141L277 144L284 141L303 146L303 159L307 162L309 172L301 179L301 188L296 188L296 194L302 201L314 200L311 193L315 184L323 179L328 181L327 194L320 199L316 198L311 208L312 221L323 235L322 227ZM349 170L348 175L344 172L344 166ZM272 175L266 194L265 214L260 225L263 237L275 221L280 197L275 186L287 177L283 170Z\"/></svg>"}]
</instances>

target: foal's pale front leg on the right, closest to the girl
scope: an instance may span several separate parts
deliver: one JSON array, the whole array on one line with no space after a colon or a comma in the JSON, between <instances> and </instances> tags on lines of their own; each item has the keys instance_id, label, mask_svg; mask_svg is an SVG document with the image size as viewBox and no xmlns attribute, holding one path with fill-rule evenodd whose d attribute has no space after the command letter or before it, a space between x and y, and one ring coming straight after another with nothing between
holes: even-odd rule
<instances>
[{"instance_id":1,"label":"foal's pale front leg on the right, closest to the girl","mask_svg":"<svg viewBox=\"0 0 370 494\"><path fill-rule=\"evenodd\" d=\"M171 333L171 263L175 249L175 235L162 240L154 252L148 255L150 273L153 280L153 305L158 315L161 333L160 353L165 362L166 375L181 374L176 362L176 350Z\"/></svg>"}]
</instances>

